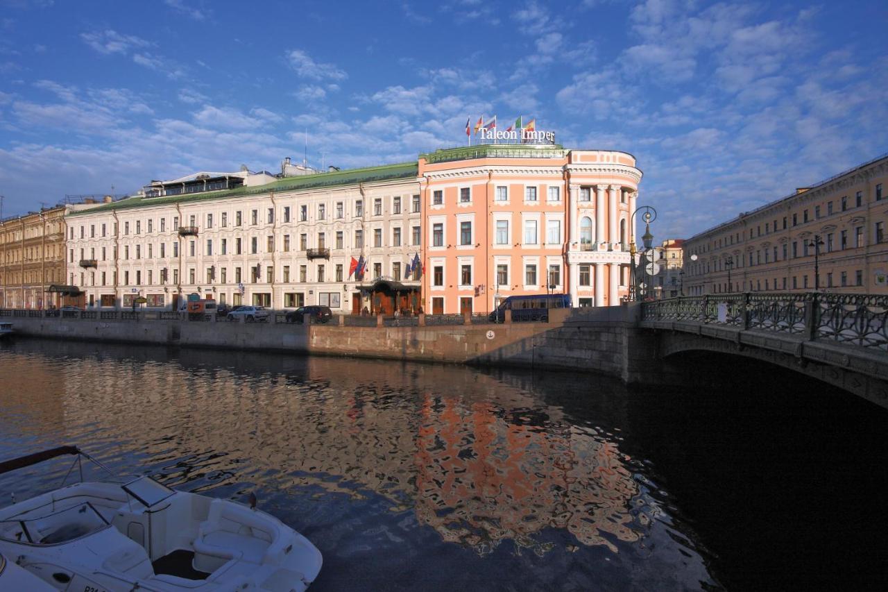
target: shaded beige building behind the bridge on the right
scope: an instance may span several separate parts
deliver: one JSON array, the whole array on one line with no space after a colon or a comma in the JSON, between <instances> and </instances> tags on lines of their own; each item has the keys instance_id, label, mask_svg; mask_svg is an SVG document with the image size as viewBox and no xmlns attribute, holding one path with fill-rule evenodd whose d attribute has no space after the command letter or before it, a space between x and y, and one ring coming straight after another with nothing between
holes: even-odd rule
<instances>
[{"instance_id":1,"label":"shaded beige building behind the bridge on the right","mask_svg":"<svg viewBox=\"0 0 888 592\"><path fill-rule=\"evenodd\" d=\"M886 188L881 156L688 238L684 292L888 293Z\"/></svg>"}]
</instances>

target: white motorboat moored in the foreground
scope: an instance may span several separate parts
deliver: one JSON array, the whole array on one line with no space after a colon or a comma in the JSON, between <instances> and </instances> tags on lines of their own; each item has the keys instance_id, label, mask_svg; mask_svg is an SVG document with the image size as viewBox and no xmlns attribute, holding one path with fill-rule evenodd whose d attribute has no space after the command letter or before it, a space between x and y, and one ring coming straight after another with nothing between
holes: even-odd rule
<instances>
[{"instance_id":1,"label":"white motorboat moored in the foreground","mask_svg":"<svg viewBox=\"0 0 888 592\"><path fill-rule=\"evenodd\" d=\"M0 474L67 454L81 475L81 457L107 470L61 446L0 462ZM321 571L321 552L274 516L150 476L82 481L3 508L0 554L72 592L301 592Z\"/></svg>"}]
</instances>

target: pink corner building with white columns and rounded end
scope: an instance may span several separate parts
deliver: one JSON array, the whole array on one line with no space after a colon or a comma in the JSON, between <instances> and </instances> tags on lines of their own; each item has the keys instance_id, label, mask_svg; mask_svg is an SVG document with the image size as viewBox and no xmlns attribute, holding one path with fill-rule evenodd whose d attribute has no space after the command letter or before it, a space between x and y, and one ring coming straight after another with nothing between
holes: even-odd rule
<instances>
[{"instance_id":1,"label":"pink corner building with white columns and rounded end","mask_svg":"<svg viewBox=\"0 0 888 592\"><path fill-rule=\"evenodd\" d=\"M624 152L485 145L419 157L424 301L485 312L511 295L569 292L574 306L628 293L641 172Z\"/></svg>"}]
</instances>

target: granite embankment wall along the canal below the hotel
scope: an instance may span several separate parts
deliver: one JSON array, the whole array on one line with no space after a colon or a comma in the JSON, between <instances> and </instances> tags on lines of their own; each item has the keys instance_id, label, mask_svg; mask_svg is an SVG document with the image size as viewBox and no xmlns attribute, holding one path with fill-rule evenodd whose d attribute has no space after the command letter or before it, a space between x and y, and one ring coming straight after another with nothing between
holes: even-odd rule
<instances>
[{"instance_id":1,"label":"granite embankment wall along the canal below the hotel","mask_svg":"<svg viewBox=\"0 0 888 592\"><path fill-rule=\"evenodd\" d=\"M655 340L639 332L638 305L552 310L549 323L355 327L15 317L20 334L184 348L361 356L453 364L602 372L644 381Z\"/></svg>"}]
</instances>

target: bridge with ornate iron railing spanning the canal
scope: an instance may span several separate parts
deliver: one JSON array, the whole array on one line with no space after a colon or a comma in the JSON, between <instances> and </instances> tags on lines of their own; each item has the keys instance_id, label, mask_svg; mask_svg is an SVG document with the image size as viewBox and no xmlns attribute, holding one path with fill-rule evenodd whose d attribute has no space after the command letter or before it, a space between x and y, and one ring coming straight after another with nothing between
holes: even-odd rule
<instances>
[{"instance_id":1,"label":"bridge with ornate iron railing spanning the canal","mask_svg":"<svg viewBox=\"0 0 888 592\"><path fill-rule=\"evenodd\" d=\"M707 351L802 372L888 408L888 295L744 292L644 302L656 357Z\"/></svg>"}]
</instances>

